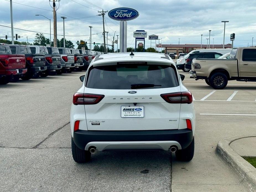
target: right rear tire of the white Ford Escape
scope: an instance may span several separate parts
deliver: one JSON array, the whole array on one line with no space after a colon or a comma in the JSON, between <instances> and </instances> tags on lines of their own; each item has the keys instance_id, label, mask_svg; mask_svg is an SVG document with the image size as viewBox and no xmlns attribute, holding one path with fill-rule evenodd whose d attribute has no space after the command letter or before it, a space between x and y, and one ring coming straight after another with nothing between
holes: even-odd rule
<instances>
[{"instance_id":1,"label":"right rear tire of the white Ford Escape","mask_svg":"<svg viewBox=\"0 0 256 192\"><path fill-rule=\"evenodd\" d=\"M190 145L185 149L180 149L175 152L176 159L179 161L190 161L194 157L195 140L193 139Z\"/></svg>"}]
</instances>

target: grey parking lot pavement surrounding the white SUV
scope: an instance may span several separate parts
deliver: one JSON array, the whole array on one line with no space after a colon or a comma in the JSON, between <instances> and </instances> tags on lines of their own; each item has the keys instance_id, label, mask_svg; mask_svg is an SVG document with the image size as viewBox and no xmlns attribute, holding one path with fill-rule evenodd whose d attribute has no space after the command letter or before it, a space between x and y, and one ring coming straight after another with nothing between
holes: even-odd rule
<instances>
[{"instance_id":1,"label":"grey parking lot pavement surrounding the white SUV","mask_svg":"<svg viewBox=\"0 0 256 192\"><path fill-rule=\"evenodd\" d=\"M69 112L81 86L72 72L0 86L1 191L247 191L216 153L220 139L256 134L256 83L230 81L214 90L183 83L196 108L195 156L169 152L98 152L87 164L71 155Z\"/></svg>"}]
</instances>

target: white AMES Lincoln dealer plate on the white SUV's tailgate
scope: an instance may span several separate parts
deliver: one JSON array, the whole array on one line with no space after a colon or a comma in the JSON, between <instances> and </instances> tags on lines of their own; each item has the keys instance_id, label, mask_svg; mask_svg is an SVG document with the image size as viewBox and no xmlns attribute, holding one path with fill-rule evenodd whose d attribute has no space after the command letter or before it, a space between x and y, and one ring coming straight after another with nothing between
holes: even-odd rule
<instances>
[{"instance_id":1,"label":"white AMES Lincoln dealer plate on the white SUV's tailgate","mask_svg":"<svg viewBox=\"0 0 256 192\"><path fill-rule=\"evenodd\" d=\"M144 117L144 106L121 106L121 117Z\"/></svg>"}]
</instances>

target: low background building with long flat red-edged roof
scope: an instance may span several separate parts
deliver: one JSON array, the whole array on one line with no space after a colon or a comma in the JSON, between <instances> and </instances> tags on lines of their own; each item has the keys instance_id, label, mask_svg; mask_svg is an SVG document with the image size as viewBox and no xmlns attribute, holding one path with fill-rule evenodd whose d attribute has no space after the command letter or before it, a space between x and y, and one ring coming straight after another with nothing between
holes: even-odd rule
<instances>
[{"instance_id":1,"label":"low background building with long flat red-edged roof","mask_svg":"<svg viewBox=\"0 0 256 192\"><path fill-rule=\"evenodd\" d=\"M202 45L202 49L207 49L207 46L209 45ZM159 47L159 44L156 45L156 47ZM184 45L172 45L172 44L160 44L160 48L164 48L165 53L174 53L176 55L179 55L179 53L189 53L190 51L201 49L201 44L184 44ZM223 45L210 45L210 49L222 49ZM231 44L224 45L224 48L232 48Z\"/></svg>"}]
</instances>

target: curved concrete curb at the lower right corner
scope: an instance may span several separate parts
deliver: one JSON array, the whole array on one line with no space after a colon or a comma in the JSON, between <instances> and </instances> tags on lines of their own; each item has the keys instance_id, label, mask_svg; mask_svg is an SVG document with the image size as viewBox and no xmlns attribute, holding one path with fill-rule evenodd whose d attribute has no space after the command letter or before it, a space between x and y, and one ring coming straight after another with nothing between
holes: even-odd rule
<instances>
[{"instance_id":1,"label":"curved concrete curb at the lower right corner","mask_svg":"<svg viewBox=\"0 0 256 192\"><path fill-rule=\"evenodd\" d=\"M242 183L249 187L251 192L256 192L256 168L237 154L229 145L237 139L256 136L234 136L221 139L216 147L216 152L227 161L241 176Z\"/></svg>"}]
</instances>

